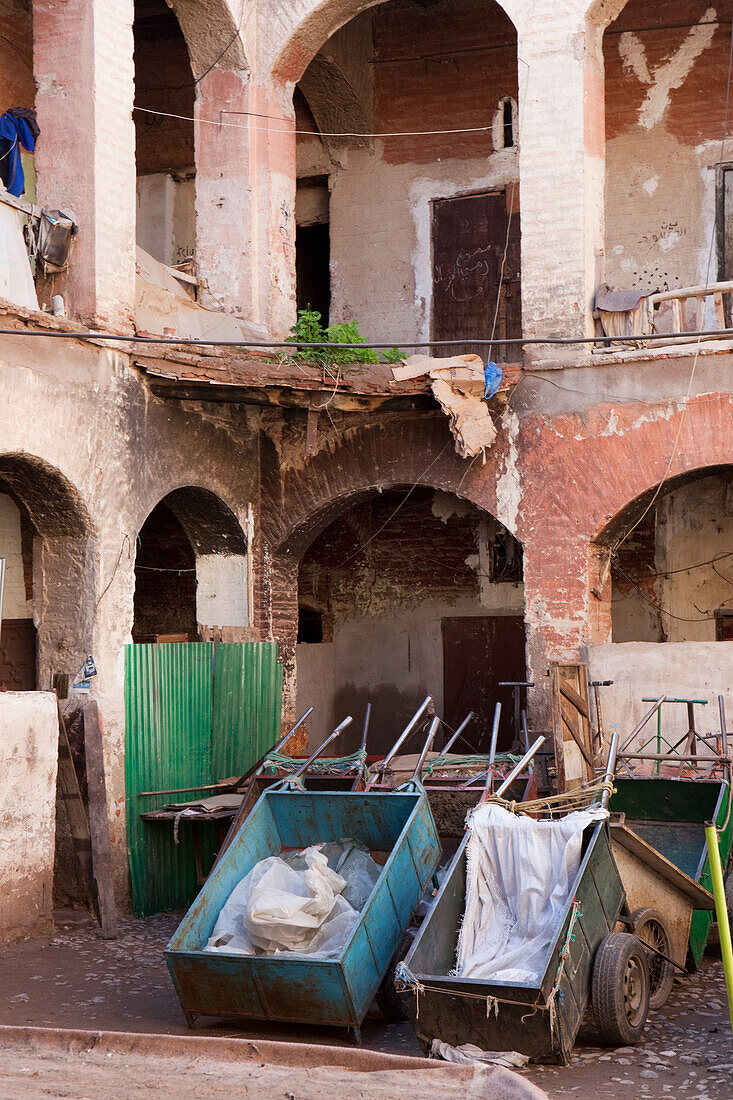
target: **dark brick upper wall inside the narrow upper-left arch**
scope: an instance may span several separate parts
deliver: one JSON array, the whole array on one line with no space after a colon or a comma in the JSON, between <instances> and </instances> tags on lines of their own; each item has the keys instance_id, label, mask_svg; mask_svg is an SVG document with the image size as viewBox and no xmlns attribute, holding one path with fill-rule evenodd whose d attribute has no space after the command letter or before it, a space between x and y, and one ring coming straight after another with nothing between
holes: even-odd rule
<instances>
[{"instance_id":1,"label":"dark brick upper wall inside the narrow upper-left arch","mask_svg":"<svg viewBox=\"0 0 733 1100\"><path fill-rule=\"evenodd\" d=\"M194 76L186 40L172 11L135 21L135 107L194 117ZM135 112L139 173L194 164L194 123Z\"/></svg>"}]
</instances>

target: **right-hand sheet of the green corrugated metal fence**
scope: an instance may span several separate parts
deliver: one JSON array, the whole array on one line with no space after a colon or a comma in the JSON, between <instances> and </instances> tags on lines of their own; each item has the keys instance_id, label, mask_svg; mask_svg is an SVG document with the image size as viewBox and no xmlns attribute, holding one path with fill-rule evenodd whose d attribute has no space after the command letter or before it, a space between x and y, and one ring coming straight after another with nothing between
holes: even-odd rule
<instances>
[{"instance_id":1,"label":"right-hand sheet of the green corrugated metal fence","mask_svg":"<svg viewBox=\"0 0 733 1100\"><path fill-rule=\"evenodd\" d=\"M211 771L241 776L280 737L283 668L274 641L219 645L214 654Z\"/></svg>"}]
</instances>

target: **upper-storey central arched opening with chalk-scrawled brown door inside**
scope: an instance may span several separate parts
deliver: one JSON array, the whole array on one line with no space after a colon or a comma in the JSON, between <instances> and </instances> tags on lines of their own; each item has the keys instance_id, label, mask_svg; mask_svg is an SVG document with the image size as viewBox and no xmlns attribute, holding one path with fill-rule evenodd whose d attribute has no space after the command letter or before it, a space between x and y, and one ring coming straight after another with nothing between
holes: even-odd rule
<instances>
[{"instance_id":1,"label":"upper-storey central arched opening with chalk-scrawled brown door inside","mask_svg":"<svg viewBox=\"0 0 733 1100\"><path fill-rule=\"evenodd\" d=\"M374 341L519 336L514 24L494 0L338 14L294 97L298 308Z\"/></svg>"}]
</instances>

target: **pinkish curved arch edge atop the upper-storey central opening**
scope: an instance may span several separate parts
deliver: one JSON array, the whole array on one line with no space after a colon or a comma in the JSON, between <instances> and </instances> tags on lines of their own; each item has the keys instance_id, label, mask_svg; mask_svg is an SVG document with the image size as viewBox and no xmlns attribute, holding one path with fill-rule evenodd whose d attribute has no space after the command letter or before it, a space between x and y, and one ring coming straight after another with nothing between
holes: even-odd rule
<instances>
[{"instance_id":1,"label":"pinkish curved arch edge atop the upper-storey central opening","mask_svg":"<svg viewBox=\"0 0 733 1100\"><path fill-rule=\"evenodd\" d=\"M269 65L272 76L285 84L297 84L311 59L332 34L355 15L385 0L291 0L278 3L271 19L272 35ZM522 0L486 0L495 3L517 23Z\"/></svg>"}]
</instances>

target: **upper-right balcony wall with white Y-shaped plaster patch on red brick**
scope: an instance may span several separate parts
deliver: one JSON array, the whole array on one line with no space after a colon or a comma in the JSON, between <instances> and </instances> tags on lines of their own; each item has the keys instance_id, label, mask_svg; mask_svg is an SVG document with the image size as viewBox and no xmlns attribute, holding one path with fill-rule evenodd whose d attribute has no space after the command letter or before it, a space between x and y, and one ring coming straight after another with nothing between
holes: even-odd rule
<instances>
[{"instance_id":1,"label":"upper-right balcony wall with white Y-shaped plaster patch on red brick","mask_svg":"<svg viewBox=\"0 0 733 1100\"><path fill-rule=\"evenodd\" d=\"M732 151L721 144L730 19L729 0L663 0L653 11L631 0L605 33L611 285L667 290L719 277L714 166ZM693 328L696 304L688 309Z\"/></svg>"}]
</instances>

